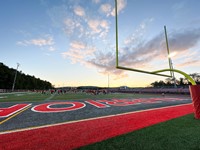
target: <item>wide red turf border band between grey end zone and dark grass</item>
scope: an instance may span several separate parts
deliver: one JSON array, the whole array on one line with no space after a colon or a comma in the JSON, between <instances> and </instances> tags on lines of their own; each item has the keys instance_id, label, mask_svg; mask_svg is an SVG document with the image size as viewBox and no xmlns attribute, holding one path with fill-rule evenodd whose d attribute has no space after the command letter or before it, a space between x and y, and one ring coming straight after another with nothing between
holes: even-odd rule
<instances>
[{"instance_id":1,"label":"wide red turf border band between grey end zone and dark grass","mask_svg":"<svg viewBox=\"0 0 200 150\"><path fill-rule=\"evenodd\" d=\"M192 104L0 134L0 149L73 149L193 112Z\"/></svg>"}]
</instances>

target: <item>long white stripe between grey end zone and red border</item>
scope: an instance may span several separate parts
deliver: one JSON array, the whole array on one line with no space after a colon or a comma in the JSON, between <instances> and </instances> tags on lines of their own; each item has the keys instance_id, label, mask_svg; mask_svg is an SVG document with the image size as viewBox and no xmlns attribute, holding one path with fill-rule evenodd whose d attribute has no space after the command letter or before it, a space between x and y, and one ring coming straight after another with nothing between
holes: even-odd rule
<instances>
[{"instance_id":1,"label":"long white stripe between grey end zone and red border","mask_svg":"<svg viewBox=\"0 0 200 150\"><path fill-rule=\"evenodd\" d=\"M102 118L110 118L110 117L115 117L115 116L123 116L123 115L135 114L135 113L145 112L145 111L151 111L151 110L159 110L159 109L164 109L164 108L179 107L179 106L191 105L191 104L192 103L180 104L180 105L173 105L173 106L165 106L165 107L151 108L151 109L145 109L145 110L139 110L139 111L132 111L132 112L127 112L127 113L115 114L115 115L94 117L94 118L88 118L88 119L80 119L80 120L74 120L74 121L68 121L68 122L62 122L62 123L56 123L56 124L49 124L49 125L43 125L43 126L35 126L35 127L29 127L29 128L23 128L23 129L17 129L17 130L10 130L10 131L8 130L8 131L0 132L0 135L2 135L2 134L9 134L9 133L15 133L15 132L29 131L29 130L36 130L36 129L41 129L41 128L53 127L53 126L66 125L66 124L77 123L77 122L97 120L97 119L102 119Z\"/></svg>"}]
</instances>

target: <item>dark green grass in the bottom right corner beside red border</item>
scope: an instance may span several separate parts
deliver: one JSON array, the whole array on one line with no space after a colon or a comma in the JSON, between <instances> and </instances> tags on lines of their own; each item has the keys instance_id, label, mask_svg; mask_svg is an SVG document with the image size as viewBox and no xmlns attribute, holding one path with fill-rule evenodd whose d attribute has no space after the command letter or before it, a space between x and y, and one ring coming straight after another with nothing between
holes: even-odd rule
<instances>
[{"instance_id":1,"label":"dark green grass in the bottom right corner beside red border","mask_svg":"<svg viewBox=\"0 0 200 150\"><path fill-rule=\"evenodd\" d=\"M200 150L200 120L186 115L80 150Z\"/></svg>"}]
</instances>

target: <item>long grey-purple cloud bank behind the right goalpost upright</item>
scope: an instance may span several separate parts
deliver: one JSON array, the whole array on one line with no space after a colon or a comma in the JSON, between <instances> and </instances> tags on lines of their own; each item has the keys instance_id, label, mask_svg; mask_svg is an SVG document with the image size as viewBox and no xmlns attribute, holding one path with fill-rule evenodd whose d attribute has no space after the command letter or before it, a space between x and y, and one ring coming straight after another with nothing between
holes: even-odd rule
<instances>
[{"instance_id":1,"label":"long grey-purple cloud bank behind the right goalpost upright","mask_svg":"<svg viewBox=\"0 0 200 150\"><path fill-rule=\"evenodd\" d=\"M171 52L177 52L179 57L184 53L192 51L200 40L199 29L173 31L168 36L169 47ZM154 60L162 60L166 57L166 44L163 33L158 34L147 42L140 43L134 47L127 45L123 48L121 61L124 65L135 64L149 65Z\"/></svg>"}]
</instances>

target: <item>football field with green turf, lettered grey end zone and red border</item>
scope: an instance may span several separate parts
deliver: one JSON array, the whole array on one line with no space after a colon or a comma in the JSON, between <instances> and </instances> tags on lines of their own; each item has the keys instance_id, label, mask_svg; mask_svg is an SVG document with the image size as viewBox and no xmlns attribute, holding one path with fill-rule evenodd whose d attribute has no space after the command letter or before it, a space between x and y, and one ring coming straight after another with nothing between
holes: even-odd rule
<instances>
[{"instance_id":1,"label":"football field with green turf, lettered grey end zone and red border","mask_svg":"<svg viewBox=\"0 0 200 150\"><path fill-rule=\"evenodd\" d=\"M45 143L50 142L40 145L37 149L48 148L48 145L61 145L60 148L57 147L58 149L78 148L190 114L193 111L191 99L187 95L14 93L1 94L0 97L0 139L2 139L1 148L4 149L12 149L13 144L8 139L14 135L20 138L23 134L25 137L31 134L38 138L36 141L39 143L44 142L44 138ZM154 116L153 120L152 116ZM116 128L113 128L114 126ZM122 127L123 129L120 129ZM112 131L104 133L107 130ZM46 132L51 134L47 136ZM63 135L64 133L67 137ZM73 142L78 138L75 135L82 137L79 142ZM59 140L52 143L52 136ZM31 145L37 142L28 140L28 137L26 140L13 142L20 149L24 142L28 142L29 144L24 146L32 149L34 147Z\"/></svg>"}]
</instances>

